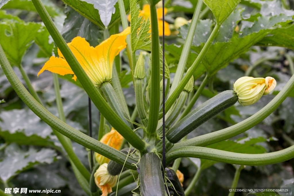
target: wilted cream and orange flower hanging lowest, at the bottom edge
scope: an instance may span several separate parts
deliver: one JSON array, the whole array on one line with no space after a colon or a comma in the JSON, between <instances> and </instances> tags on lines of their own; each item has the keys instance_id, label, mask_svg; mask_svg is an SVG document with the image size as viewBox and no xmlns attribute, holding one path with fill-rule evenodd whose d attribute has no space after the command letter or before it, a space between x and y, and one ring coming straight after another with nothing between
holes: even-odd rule
<instances>
[{"instance_id":1,"label":"wilted cream and orange flower hanging lowest, at the bottom edge","mask_svg":"<svg viewBox=\"0 0 294 196\"><path fill-rule=\"evenodd\" d=\"M98 170L96 170L94 177L96 185L101 189L102 195L107 196L108 193L112 192L112 187L116 185L117 175L110 175L107 171L107 163L100 165Z\"/></svg>"}]
</instances>

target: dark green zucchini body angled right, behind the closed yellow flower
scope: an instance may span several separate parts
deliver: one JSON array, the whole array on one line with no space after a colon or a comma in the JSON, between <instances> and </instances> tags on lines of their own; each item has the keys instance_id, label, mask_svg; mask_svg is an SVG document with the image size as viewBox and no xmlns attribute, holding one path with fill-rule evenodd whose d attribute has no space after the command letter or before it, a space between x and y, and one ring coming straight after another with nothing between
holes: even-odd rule
<instances>
[{"instance_id":1,"label":"dark green zucchini body angled right, behind the closed yellow flower","mask_svg":"<svg viewBox=\"0 0 294 196\"><path fill-rule=\"evenodd\" d=\"M228 90L219 93L180 120L168 131L166 138L171 143L177 143L199 125L234 105L237 101L238 96L234 91Z\"/></svg>"}]
</instances>

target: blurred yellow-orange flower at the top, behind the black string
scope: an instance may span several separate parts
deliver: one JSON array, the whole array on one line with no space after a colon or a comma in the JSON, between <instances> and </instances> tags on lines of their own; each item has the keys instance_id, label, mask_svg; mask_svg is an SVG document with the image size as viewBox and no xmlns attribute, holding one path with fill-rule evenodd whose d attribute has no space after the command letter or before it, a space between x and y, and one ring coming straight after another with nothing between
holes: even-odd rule
<instances>
[{"instance_id":1,"label":"blurred yellow-orange flower at the top, behind the black string","mask_svg":"<svg viewBox=\"0 0 294 196\"><path fill-rule=\"evenodd\" d=\"M162 8L157 8L157 19L158 19L158 31L159 31L159 36L163 35L163 24L162 24ZM164 15L166 15L167 9L164 8ZM150 5L145 4L143 6L143 9L139 12L139 16L143 16L143 19L151 21L151 14L150 14ZM128 21L131 21L131 15L128 15ZM150 26L151 27L151 26ZM148 31L148 33L151 33L151 29ZM171 30L169 28L169 24L164 21L164 35L170 36L171 35Z\"/></svg>"}]
</instances>

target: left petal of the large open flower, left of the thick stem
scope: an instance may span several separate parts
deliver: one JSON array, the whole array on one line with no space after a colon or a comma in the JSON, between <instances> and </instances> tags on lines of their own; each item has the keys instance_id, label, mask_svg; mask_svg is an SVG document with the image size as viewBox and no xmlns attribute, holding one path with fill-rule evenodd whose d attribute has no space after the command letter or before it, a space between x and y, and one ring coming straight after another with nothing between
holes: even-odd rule
<instances>
[{"instance_id":1,"label":"left petal of the large open flower, left of the thick stem","mask_svg":"<svg viewBox=\"0 0 294 196\"><path fill-rule=\"evenodd\" d=\"M61 76L64 76L66 74L74 74L66 60L64 60L63 58L57 58L55 56L50 57L49 61L47 61L43 68L39 71L38 76L45 70L51 71L53 73L58 73Z\"/></svg>"}]
</instances>

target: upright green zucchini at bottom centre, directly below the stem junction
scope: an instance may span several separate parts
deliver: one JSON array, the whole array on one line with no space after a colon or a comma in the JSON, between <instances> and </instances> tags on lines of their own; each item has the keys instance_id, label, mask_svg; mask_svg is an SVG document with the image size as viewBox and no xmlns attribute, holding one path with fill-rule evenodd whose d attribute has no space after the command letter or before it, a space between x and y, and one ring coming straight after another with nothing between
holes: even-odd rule
<instances>
[{"instance_id":1,"label":"upright green zucchini at bottom centre, directly below the stem junction","mask_svg":"<svg viewBox=\"0 0 294 196\"><path fill-rule=\"evenodd\" d=\"M146 153L141 157L139 179L142 196L166 195L161 160L155 153Z\"/></svg>"}]
</instances>

